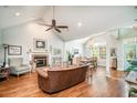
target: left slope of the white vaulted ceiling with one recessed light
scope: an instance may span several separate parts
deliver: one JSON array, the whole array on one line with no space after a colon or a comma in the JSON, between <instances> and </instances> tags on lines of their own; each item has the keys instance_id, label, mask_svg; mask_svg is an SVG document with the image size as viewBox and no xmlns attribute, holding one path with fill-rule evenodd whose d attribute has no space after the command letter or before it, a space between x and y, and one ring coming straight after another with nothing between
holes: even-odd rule
<instances>
[{"instance_id":1,"label":"left slope of the white vaulted ceiling with one recessed light","mask_svg":"<svg viewBox=\"0 0 137 103\"><path fill-rule=\"evenodd\" d=\"M44 17L48 7L42 6L1 6L0 7L0 29L25 23L39 18ZM15 17L15 13L20 12L20 17Z\"/></svg>"}]
</instances>

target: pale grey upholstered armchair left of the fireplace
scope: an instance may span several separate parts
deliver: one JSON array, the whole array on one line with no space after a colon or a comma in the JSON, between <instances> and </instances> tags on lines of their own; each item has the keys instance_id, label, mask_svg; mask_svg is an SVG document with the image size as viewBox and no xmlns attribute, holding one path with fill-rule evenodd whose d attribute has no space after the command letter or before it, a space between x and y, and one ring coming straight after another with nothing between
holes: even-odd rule
<instances>
[{"instance_id":1,"label":"pale grey upholstered armchair left of the fireplace","mask_svg":"<svg viewBox=\"0 0 137 103\"><path fill-rule=\"evenodd\" d=\"M22 58L10 58L9 64L10 64L10 73L20 75L27 72L30 72L31 69L27 64L22 64L23 59Z\"/></svg>"}]
</instances>

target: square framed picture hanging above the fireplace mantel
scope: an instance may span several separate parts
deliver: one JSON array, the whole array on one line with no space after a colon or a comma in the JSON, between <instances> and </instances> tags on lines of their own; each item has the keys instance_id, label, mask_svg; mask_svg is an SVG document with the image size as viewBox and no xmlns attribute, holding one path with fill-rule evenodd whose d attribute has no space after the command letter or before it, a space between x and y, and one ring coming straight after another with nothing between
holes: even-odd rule
<instances>
[{"instance_id":1,"label":"square framed picture hanging above the fireplace mantel","mask_svg":"<svg viewBox=\"0 0 137 103\"><path fill-rule=\"evenodd\" d=\"M46 50L46 42L44 39L34 39L34 50Z\"/></svg>"}]
</instances>

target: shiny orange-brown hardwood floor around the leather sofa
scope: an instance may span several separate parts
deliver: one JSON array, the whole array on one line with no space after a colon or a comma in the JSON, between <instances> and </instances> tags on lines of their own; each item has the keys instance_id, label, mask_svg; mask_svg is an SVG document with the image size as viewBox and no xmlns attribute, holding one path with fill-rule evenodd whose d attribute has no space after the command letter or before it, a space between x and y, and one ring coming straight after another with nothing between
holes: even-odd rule
<instances>
[{"instance_id":1,"label":"shiny orange-brown hardwood floor around the leather sofa","mask_svg":"<svg viewBox=\"0 0 137 103\"><path fill-rule=\"evenodd\" d=\"M1 97L124 97L127 95L123 73L112 72L113 78L106 78L105 69L93 71L92 79L86 79L75 86L55 94L44 93L38 86L36 73L10 76L9 81L0 82ZM122 75L122 76L119 76Z\"/></svg>"}]
</instances>

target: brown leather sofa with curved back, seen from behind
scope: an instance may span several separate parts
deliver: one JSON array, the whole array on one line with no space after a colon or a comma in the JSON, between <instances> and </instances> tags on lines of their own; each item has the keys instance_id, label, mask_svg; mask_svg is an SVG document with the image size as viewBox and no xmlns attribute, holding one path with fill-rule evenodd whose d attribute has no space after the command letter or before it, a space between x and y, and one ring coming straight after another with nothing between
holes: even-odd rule
<instances>
[{"instance_id":1,"label":"brown leather sofa with curved back, seen from behind","mask_svg":"<svg viewBox=\"0 0 137 103\"><path fill-rule=\"evenodd\" d=\"M85 81L88 65L66 69L38 69L39 87L44 92L54 93Z\"/></svg>"}]
</instances>

